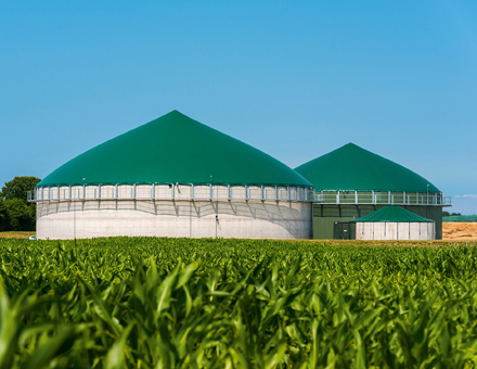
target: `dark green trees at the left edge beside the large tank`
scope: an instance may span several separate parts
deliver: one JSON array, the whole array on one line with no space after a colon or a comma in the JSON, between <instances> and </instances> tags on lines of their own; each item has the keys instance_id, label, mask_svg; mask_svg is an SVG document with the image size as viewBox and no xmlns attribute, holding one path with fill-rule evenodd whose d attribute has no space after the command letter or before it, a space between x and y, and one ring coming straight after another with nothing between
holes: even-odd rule
<instances>
[{"instance_id":1,"label":"dark green trees at the left edge beside the large tank","mask_svg":"<svg viewBox=\"0 0 477 369\"><path fill-rule=\"evenodd\" d=\"M40 178L22 176L5 182L0 192L0 231L34 231L37 206L28 203L27 192L33 191Z\"/></svg>"}]
</instances>

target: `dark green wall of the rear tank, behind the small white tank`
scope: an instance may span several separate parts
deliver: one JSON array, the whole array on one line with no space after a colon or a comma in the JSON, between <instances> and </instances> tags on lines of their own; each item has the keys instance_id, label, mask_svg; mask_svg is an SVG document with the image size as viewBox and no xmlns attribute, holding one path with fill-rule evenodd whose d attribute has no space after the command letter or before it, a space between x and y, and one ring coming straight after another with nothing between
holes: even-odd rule
<instances>
[{"instance_id":1,"label":"dark green wall of the rear tank, behind the small white tank","mask_svg":"<svg viewBox=\"0 0 477 369\"><path fill-rule=\"evenodd\" d=\"M313 239L333 239L335 221L349 221L373 213L387 205L313 205ZM410 205L401 206L414 214L436 221L436 239L442 239L442 207Z\"/></svg>"}]
</instances>

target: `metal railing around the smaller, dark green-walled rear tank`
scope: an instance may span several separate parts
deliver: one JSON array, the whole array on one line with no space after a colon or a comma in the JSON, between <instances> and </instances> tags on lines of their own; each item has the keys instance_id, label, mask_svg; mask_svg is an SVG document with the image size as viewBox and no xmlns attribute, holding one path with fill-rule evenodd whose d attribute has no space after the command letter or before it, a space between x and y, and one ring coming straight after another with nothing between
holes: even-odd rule
<instances>
[{"instance_id":1,"label":"metal railing around the smaller, dark green-walled rear tank","mask_svg":"<svg viewBox=\"0 0 477 369\"><path fill-rule=\"evenodd\" d=\"M314 202L343 205L429 205L452 206L442 193L392 191L315 191Z\"/></svg>"}]
</instances>

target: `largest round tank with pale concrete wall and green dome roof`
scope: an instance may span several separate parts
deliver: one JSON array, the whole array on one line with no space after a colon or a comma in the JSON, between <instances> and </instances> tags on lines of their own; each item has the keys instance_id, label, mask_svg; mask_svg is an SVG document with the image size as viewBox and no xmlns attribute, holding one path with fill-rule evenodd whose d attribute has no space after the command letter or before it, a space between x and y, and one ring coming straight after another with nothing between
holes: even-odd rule
<instances>
[{"instance_id":1,"label":"largest round tank with pale concrete wall and green dome roof","mask_svg":"<svg viewBox=\"0 0 477 369\"><path fill-rule=\"evenodd\" d=\"M311 184L270 155L173 111L40 183L37 237L307 239Z\"/></svg>"}]
</instances>

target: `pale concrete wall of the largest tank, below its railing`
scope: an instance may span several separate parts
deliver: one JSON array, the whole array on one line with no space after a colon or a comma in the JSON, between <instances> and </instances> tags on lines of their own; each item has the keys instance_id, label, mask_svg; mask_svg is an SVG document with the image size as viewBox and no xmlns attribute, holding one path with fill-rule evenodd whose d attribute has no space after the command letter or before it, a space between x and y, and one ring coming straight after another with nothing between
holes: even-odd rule
<instances>
[{"instance_id":1,"label":"pale concrete wall of the largest tank, below its railing","mask_svg":"<svg viewBox=\"0 0 477 369\"><path fill-rule=\"evenodd\" d=\"M178 237L309 239L311 203L59 201L37 203L38 239Z\"/></svg>"}]
</instances>

